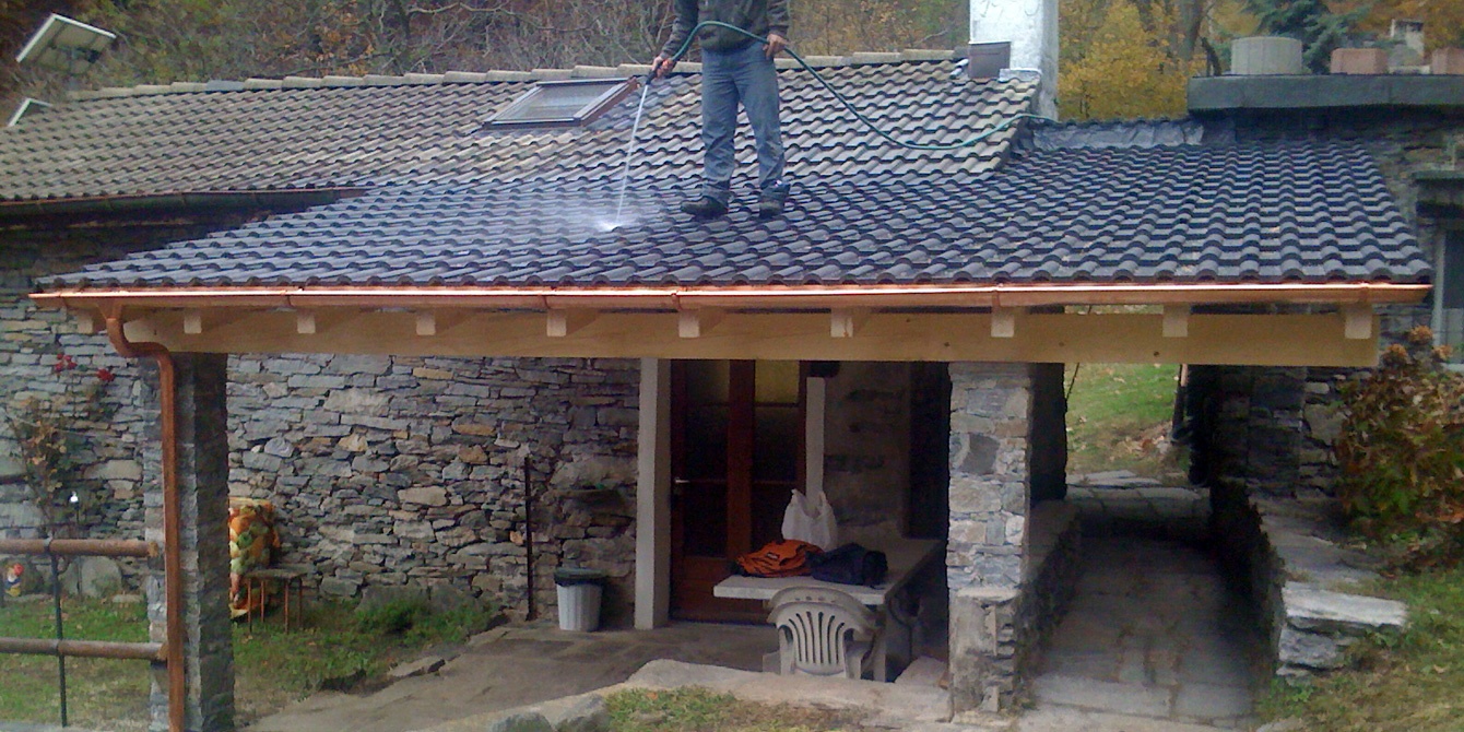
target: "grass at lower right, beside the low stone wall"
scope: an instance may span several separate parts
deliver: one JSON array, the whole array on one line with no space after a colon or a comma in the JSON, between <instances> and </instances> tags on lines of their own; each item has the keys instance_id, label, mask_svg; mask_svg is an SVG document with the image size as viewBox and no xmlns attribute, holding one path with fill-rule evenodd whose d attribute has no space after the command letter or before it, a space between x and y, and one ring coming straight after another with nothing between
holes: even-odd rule
<instances>
[{"instance_id":1,"label":"grass at lower right, beside the low stone wall","mask_svg":"<svg viewBox=\"0 0 1464 732\"><path fill-rule=\"evenodd\" d=\"M1464 731L1464 568L1383 580L1408 603L1408 628L1357 649L1363 668L1272 684L1266 719L1296 717L1309 732Z\"/></svg>"}]
</instances>

